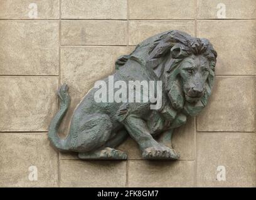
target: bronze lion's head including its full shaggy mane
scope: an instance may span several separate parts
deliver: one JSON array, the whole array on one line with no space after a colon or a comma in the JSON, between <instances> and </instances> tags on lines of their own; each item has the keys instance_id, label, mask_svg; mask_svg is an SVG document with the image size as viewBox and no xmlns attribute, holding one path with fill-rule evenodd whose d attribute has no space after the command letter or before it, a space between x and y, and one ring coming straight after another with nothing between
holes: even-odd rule
<instances>
[{"instance_id":1,"label":"bronze lion's head including its full shaggy mane","mask_svg":"<svg viewBox=\"0 0 256 200\"><path fill-rule=\"evenodd\" d=\"M205 107L213 87L217 53L205 38L181 31L167 31L141 42L127 59L153 69L163 80L174 109L195 116Z\"/></svg>"}]
</instances>

